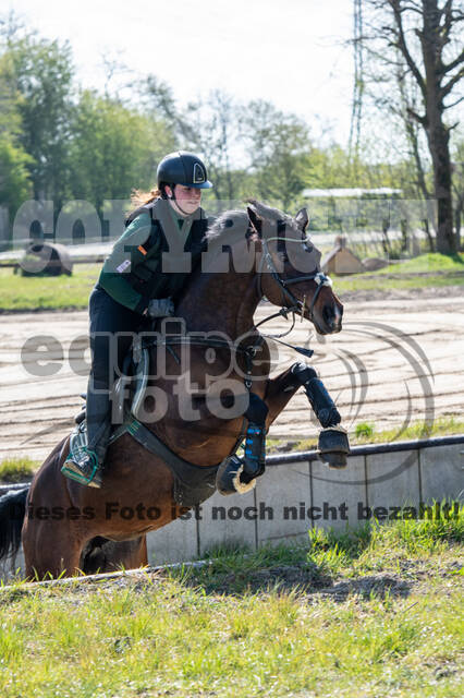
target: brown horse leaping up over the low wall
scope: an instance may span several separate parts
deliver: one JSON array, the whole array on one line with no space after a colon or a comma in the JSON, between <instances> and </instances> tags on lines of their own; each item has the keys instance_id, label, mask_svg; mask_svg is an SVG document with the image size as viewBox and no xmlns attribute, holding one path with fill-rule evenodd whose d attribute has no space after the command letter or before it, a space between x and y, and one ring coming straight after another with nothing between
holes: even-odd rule
<instances>
[{"instance_id":1,"label":"brown horse leaping up over the low wall","mask_svg":"<svg viewBox=\"0 0 464 698\"><path fill-rule=\"evenodd\" d=\"M253 322L262 296L277 306L296 308L320 334L340 332L343 306L319 273L320 253L306 239L306 225L305 209L291 218L252 202L246 213L224 214L208 231L202 268L191 275L178 315L188 334L220 330L232 342L259 346L259 351L247 368L240 351L216 346L211 353L211 348L193 345L188 381L175 351L166 353L166 376L151 381L167 396L166 414L146 425L184 460L200 467L220 464L240 441L242 416L224 419L211 408L215 399L224 407L227 400L218 397L222 387L240 386L246 396L252 383L269 409L269 428L302 385L291 369L269 378L269 347ZM185 417L186 405L194 417ZM145 534L183 513L166 462L126 433L110 446L103 485L96 490L61 474L68 453L69 437L44 462L27 500L23 491L0 501L0 555L19 545L22 521L16 516L5 522L7 505L11 510L13 504L25 515L22 542L29 578L147 564ZM124 507L138 514L123 517ZM147 515L150 507L156 507L156 518Z\"/></svg>"}]
</instances>

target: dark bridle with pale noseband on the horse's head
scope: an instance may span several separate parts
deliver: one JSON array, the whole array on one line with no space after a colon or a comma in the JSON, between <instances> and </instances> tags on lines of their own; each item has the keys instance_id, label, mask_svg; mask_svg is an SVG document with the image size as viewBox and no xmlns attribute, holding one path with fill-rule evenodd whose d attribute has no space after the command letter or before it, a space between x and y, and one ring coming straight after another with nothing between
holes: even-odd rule
<instances>
[{"instance_id":1,"label":"dark bridle with pale noseband on the horse's head","mask_svg":"<svg viewBox=\"0 0 464 698\"><path fill-rule=\"evenodd\" d=\"M276 265L273 263L272 260L272 255L269 252L269 242L273 242L273 241L279 241L282 240L281 238L269 238L268 240L265 240L264 238L261 239L262 242L262 255L261 255L261 260L259 263L259 269L258 269L258 274L257 274L257 285L258 285L258 293L259 293L259 298L262 298L264 293L262 293L262 282L261 282L261 276L262 276L262 272L265 268L265 265L267 266L268 270L270 272L270 274L272 275L272 278L277 281L278 286L280 287L280 290L283 294L283 297L285 298L285 300L290 301L291 305L286 306L286 310L289 312L297 312L301 314L302 318L303 318L303 314L305 311L305 304L306 304L306 297L305 300L302 302L301 300L298 300L296 298L296 296L294 296L294 293L292 293L292 291L288 288L289 286L291 286L292 284L300 284L301 281L316 281L317 284L317 289L315 294L313 296L313 300L310 302L310 305L308 308L309 311L309 317L310 320L314 322L314 306L315 303L318 299L318 296L320 293L320 291L322 290L322 286L332 286L332 280L330 279L330 277L326 276L326 274L323 274L323 272L313 272L312 274L305 274L304 276L295 276L293 278L290 279L283 279L280 274L278 273ZM297 238L290 238L286 239L285 238L285 242L304 242L304 240L298 240Z\"/></svg>"}]
</instances>

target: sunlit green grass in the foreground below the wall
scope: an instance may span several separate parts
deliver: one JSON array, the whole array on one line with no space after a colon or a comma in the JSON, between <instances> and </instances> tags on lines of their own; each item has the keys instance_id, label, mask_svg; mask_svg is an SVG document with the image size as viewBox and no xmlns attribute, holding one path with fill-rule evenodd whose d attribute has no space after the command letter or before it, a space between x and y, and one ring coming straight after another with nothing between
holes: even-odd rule
<instances>
[{"instance_id":1,"label":"sunlit green grass in the foreground below the wall","mask_svg":"<svg viewBox=\"0 0 464 698\"><path fill-rule=\"evenodd\" d=\"M461 696L459 541L462 520L398 521L142 580L16 585L0 695Z\"/></svg>"}]
</instances>

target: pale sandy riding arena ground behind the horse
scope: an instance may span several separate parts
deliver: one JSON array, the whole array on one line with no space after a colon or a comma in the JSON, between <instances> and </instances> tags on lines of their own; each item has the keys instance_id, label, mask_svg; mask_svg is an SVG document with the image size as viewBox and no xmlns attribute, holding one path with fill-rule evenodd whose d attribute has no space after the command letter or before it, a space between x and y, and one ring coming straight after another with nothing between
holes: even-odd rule
<instances>
[{"instance_id":1,"label":"pale sandy riding arena ground behind the horse","mask_svg":"<svg viewBox=\"0 0 464 698\"><path fill-rule=\"evenodd\" d=\"M462 289L462 287L461 287ZM321 338L297 320L284 338L312 347L310 360L335 398L343 423L370 422L378 431L441 416L462 417L464 408L464 297L459 287L347 296L343 330ZM452 293L452 294L450 294ZM370 293L370 298L371 298ZM256 321L270 314L258 309ZM279 318L269 334L289 325ZM21 313L0 316L0 460L27 455L42 460L69 433L86 388L87 313ZM37 336L56 342L50 375L34 375L27 342ZM49 339L47 341L50 341ZM276 346L276 345L274 345ZM50 363L47 352L47 363ZM279 347L273 373L298 354ZM302 358L304 360L304 358ZM270 436L317 435L304 393L289 404Z\"/></svg>"}]
</instances>

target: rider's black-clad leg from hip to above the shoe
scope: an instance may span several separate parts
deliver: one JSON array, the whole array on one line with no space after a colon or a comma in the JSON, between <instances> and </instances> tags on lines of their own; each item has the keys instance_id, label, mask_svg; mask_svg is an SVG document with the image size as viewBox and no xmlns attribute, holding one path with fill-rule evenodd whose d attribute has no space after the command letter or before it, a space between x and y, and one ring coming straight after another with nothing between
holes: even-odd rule
<instances>
[{"instance_id":1,"label":"rider's black-clad leg from hip to above the shoe","mask_svg":"<svg viewBox=\"0 0 464 698\"><path fill-rule=\"evenodd\" d=\"M111 390L142 318L98 286L90 294L89 314L91 370L86 411L88 446L93 448L109 436Z\"/></svg>"}]
</instances>

